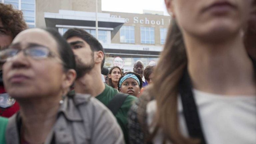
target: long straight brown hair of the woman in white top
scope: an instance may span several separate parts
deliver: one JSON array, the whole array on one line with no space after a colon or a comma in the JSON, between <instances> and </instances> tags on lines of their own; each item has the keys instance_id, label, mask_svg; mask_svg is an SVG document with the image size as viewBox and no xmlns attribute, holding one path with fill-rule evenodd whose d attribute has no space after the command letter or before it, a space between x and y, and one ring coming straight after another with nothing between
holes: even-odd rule
<instances>
[{"instance_id":1,"label":"long straight brown hair of the woman in white top","mask_svg":"<svg viewBox=\"0 0 256 144\"><path fill-rule=\"evenodd\" d=\"M163 143L167 140L175 144L195 144L197 139L186 138L181 134L177 114L178 85L187 66L187 55L182 33L175 19L169 27L166 43L159 62L155 68L154 81L140 96L137 109L138 120L145 134L145 143L151 142L159 129L163 132ZM152 125L155 126L149 134L145 124L147 103L156 100L156 114Z\"/></svg>"}]
</instances>

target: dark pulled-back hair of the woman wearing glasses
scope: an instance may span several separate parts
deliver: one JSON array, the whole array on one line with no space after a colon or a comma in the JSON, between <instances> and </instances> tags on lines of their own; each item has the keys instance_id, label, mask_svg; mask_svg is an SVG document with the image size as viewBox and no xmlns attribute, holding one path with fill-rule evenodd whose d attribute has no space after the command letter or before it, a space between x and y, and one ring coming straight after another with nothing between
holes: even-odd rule
<instances>
[{"instance_id":1,"label":"dark pulled-back hair of the woman wearing glasses","mask_svg":"<svg viewBox=\"0 0 256 144\"><path fill-rule=\"evenodd\" d=\"M47 28L44 30L50 33L56 40L58 44L58 52L60 54L60 58L64 63L64 70L68 70L68 69L75 70L76 68L75 56L70 45L67 43L67 41L60 35L59 32L57 32L54 29Z\"/></svg>"}]
</instances>

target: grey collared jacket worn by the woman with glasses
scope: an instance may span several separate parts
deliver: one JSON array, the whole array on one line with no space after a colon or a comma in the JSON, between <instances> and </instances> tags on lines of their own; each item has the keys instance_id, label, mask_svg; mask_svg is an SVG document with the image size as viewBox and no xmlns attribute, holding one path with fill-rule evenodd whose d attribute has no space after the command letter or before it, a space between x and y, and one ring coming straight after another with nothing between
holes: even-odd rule
<instances>
[{"instance_id":1,"label":"grey collared jacket worn by the woman with glasses","mask_svg":"<svg viewBox=\"0 0 256 144\"><path fill-rule=\"evenodd\" d=\"M122 130L113 114L90 95L66 97L57 115L45 144L124 144ZM20 126L19 113L9 118L7 144L20 143Z\"/></svg>"}]
</instances>

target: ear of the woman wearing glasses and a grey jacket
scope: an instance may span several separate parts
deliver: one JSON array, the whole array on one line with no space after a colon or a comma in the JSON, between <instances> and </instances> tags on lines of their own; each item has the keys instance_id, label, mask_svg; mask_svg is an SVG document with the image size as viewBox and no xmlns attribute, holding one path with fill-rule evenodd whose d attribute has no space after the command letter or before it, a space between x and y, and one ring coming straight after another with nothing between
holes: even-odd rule
<instances>
[{"instance_id":1,"label":"ear of the woman wearing glasses and a grey jacket","mask_svg":"<svg viewBox=\"0 0 256 144\"><path fill-rule=\"evenodd\" d=\"M74 69L69 69L64 75L63 75L63 83L62 88L67 89L69 88L76 79L76 71Z\"/></svg>"}]
</instances>

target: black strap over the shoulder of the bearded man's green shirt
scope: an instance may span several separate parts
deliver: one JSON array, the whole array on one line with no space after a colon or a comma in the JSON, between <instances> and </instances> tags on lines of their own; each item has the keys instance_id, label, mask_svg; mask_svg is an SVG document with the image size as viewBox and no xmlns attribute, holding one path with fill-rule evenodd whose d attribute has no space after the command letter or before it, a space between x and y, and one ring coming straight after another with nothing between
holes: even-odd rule
<instances>
[{"instance_id":1,"label":"black strap over the shoulder of the bearded man's green shirt","mask_svg":"<svg viewBox=\"0 0 256 144\"><path fill-rule=\"evenodd\" d=\"M107 107L110 111L114 114L117 114L119 108L123 105L125 99L127 98L128 94L124 93L117 93L112 100L108 103Z\"/></svg>"}]
</instances>

